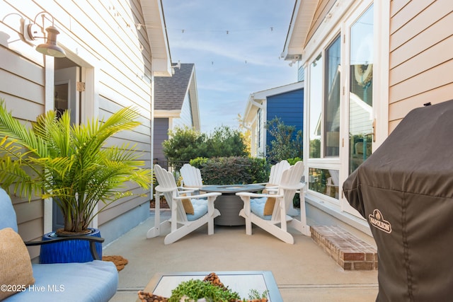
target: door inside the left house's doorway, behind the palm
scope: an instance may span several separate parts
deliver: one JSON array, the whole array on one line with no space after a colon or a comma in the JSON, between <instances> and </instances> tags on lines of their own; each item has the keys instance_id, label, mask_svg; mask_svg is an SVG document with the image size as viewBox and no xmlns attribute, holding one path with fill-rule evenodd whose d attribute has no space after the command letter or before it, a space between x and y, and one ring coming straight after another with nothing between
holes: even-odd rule
<instances>
[{"instance_id":1,"label":"door inside the left house's doorway, behind the palm","mask_svg":"<svg viewBox=\"0 0 453 302\"><path fill-rule=\"evenodd\" d=\"M79 92L77 91L79 74L79 66L55 70L54 107L59 114L66 110L71 110L71 122L73 124L78 124L80 121ZM54 202L52 207L52 231L63 227L63 214Z\"/></svg>"}]
</instances>

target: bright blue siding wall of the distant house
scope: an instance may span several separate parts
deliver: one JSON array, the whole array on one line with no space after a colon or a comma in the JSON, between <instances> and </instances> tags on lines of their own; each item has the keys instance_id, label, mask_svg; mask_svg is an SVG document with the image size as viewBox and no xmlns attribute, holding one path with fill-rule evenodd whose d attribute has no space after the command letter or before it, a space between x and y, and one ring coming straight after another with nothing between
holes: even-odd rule
<instances>
[{"instance_id":1,"label":"bright blue siding wall of the distant house","mask_svg":"<svg viewBox=\"0 0 453 302\"><path fill-rule=\"evenodd\" d=\"M266 121L270 122L275 117L287 126L295 126L294 137L304 125L304 89L289 91L267 98ZM266 132L266 145L270 146L273 137Z\"/></svg>"}]
</instances>

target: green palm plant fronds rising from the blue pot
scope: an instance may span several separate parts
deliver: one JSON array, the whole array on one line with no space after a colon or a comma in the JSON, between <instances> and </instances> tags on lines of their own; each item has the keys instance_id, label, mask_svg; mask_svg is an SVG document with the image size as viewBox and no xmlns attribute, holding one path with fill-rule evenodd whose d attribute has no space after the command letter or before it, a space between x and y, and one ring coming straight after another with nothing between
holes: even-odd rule
<instances>
[{"instance_id":1,"label":"green palm plant fronds rising from the blue pot","mask_svg":"<svg viewBox=\"0 0 453 302\"><path fill-rule=\"evenodd\" d=\"M52 198L64 217L57 234L89 233L94 216L133 194L128 181L143 189L151 183L135 146L106 146L113 135L137 127L138 116L123 108L107 120L71 124L69 111L61 117L49 111L26 127L0 100L1 187L29 201L33 195Z\"/></svg>"}]
</instances>

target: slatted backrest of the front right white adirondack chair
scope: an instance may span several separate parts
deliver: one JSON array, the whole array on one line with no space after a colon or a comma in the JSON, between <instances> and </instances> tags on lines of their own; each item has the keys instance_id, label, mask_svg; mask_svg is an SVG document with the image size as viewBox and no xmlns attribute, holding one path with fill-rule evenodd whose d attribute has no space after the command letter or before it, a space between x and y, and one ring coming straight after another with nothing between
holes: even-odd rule
<instances>
[{"instance_id":1,"label":"slatted backrest of the front right white adirondack chair","mask_svg":"<svg viewBox=\"0 0 453 302\"><path fill-rule=\"evenodd\" d=\"M283 171L280 184L278 186L278 194L284 195L285 209L288 211L292 205L292 199L297 190L302 190L303 186L301 179L304 175L304 163L298 161L295 165L290 166L287 170ZM275 202L272 220L280 220L280 207L278 202Z\"/></svg>"}]
</instances>

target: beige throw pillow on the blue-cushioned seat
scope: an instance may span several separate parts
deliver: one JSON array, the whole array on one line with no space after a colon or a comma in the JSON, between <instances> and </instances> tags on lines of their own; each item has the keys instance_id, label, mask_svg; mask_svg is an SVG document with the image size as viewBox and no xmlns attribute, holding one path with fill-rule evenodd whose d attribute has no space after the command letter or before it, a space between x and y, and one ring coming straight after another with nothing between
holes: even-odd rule
<instances>
[{"instance_id":1,"label":"beige throw pillow on the blue-cushioned seat","mask_svg":"<svg viewBox=\"0 0 453 302\"><path fill-rule=\"evenodd\" d=\"M12 228L0 230L0 284L11 286L8 291L0 291L0 300L21 291L35 283L30 255L21 236Z\"/></svg>"}]
</instances>

